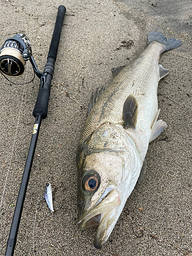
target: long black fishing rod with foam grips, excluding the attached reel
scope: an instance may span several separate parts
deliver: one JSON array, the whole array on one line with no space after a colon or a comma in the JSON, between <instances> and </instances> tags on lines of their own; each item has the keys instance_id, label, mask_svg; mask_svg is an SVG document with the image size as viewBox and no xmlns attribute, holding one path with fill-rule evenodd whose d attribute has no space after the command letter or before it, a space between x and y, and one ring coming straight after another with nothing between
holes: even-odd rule
<instances>
[{"instance_id":1,"label":"long black fishing rod with foam grips, excluding the attached reel","mask_svg":"<svg viewBox=\"0 0 192 256\"><path fill-rule=\"evenodd\" d=\"M35 125L33 129L33 135L31 138L31 144L29 147L27 161L24 169L24 174L23 174L23 178L22 178L22 182L20 185L19 194L18 194L16 206L15 206L15 211L13 215L13 220L11 224L5 256L13 256L14 254L16 238L17 238L18 228L20 224L20 218L22 217L22 211L23 211L25 196L27 192L30 172L32 168L33 158L35 154L35 148L37 144L40 124L41 124L41 120L47 117L51 80L53 78L54 64L57 56L59 39L60 39L62 23L63 23L65 13L66 13L65 6L59 6L58 12L57 12L57 18L55 22L55 28L54 28L54 32L51 40L50 49L49 49L48 60L44 70L46 80L43 84L40 84L39 94L38 94L37 101L34 108L34 111L36 110L35 114L33 111L33 115L36 118Z\"/></svg>"}]
</instances>

